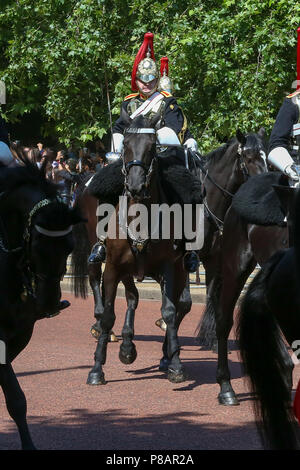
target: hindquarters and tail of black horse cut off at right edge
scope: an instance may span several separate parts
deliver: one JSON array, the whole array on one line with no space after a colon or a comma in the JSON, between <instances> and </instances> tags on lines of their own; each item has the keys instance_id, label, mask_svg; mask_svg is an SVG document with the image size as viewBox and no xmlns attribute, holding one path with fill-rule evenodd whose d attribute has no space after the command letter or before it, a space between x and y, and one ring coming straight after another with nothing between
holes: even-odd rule
<instances>
[{"instance_id":1,"label":"hindquarters and tail of black horse cut off at right edge","mask_svg":"<svg viewBox=\"0 0 300 470\"><path fill-rule=\"evenodd\" d=\"M292 347L300 338L299 192L294 233L294 247L275 253L251 282L237 325L242 362L255 393L256 423L271 449L300 449L291 406L293 361L281 335Z\"/></svg>"}]
</instances>

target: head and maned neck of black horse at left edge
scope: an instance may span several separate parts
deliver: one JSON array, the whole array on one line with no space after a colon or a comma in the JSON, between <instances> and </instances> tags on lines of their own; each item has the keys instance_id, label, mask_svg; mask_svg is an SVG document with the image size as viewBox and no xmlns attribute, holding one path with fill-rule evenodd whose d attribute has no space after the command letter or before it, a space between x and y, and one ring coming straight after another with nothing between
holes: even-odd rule
<instances>
[{"instance_id":1,"label":"head and maned neck of black horse at left edge","mask_svg":"<svg viewBox=\"0 0 300 470\"><path fill-rule=\"evenodd\" d=\"M72 227L83 219L78 209L59 199L57 187L43 171L28 160L23 163L1 171L0 238L7 245L4 251L19 250L16 275L23 291L35 298L40 317L58 311L60 280L73 249Z\"/></svg>"}]
</instances>

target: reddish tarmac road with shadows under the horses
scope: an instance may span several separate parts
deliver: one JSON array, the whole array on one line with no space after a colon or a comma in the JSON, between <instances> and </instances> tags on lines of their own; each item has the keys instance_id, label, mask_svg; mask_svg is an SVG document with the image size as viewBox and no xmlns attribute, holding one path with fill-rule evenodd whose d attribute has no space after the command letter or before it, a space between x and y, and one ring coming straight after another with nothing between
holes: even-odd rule
<instances>
[{"instance_id":1,"label":"reddish tarmac road with shadows under the horses","mask_svg":"<svg viewBox=\"0 0 300 470\"><path fill-rule=\"evenodd\" d=\"M160 303L140 301L136 312L138 356L119 361L120 343L110 343L106 385L88 386L96 342L90 335L93 300L65 293L71 307L36 324L27 348L14 362L27 397L28 423L42 450L259 450L252 397L242 378L238 351L230 340L232 384L240 406L217 402L216 355L200 350L194 331L203 305L194 304L180 328L181 359L189 380L170 383L158 370L163 332L154 322ZM116 301L114 331L120 335L125 300ZM300 377L295 368L294 387ZM0 401L0 449L19 449L16 427Z\"/></svg>"}]
</instances>

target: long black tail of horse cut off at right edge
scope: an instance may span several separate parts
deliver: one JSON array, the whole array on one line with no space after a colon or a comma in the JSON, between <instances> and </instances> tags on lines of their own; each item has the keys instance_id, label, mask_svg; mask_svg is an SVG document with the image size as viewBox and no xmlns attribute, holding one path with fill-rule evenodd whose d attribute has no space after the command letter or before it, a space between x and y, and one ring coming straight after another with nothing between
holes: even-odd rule
<instances>
[{"instance_id":1,"label":"long black tail of horse cut off at right edge","mask_svg":"<svg viewBox=\"0 0 300 470\"><path fill-rule=\"evenodd\" d=\"M286 381L285 348L265 292L269 276L284 252L277 252L251 282L241 303L237 339L250 389L256 395L254 413L265 447L297 449L295 417Z\"/></svg>"}]
</instances>

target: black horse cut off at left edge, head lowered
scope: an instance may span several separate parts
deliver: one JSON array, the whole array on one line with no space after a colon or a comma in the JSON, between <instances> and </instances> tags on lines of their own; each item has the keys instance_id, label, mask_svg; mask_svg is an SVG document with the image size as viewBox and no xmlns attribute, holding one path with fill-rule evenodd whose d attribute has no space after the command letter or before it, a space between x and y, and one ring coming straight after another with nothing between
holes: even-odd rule
<instances>
[{"instance_id":1,"label":"black horse cut off at left edge, head lowered","mask_svg":"<svg viewBox=\"0 0 300 470\"><path fill-rule=\"evenodd\" d=\"M72 226L82 218L58 199L44 168L21 158L22 166L0 168L0 385L22 448L34 449L26 398L11 363L28 344L36 320L69 305L60 301L60 280L73 249Z\"/></svg>"}]
</instances>

